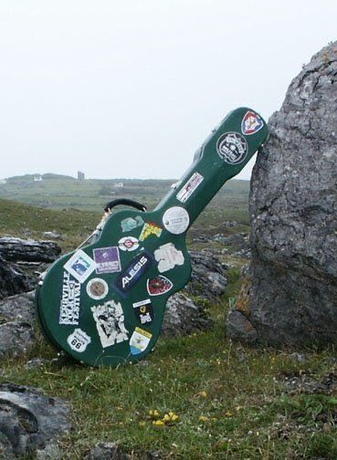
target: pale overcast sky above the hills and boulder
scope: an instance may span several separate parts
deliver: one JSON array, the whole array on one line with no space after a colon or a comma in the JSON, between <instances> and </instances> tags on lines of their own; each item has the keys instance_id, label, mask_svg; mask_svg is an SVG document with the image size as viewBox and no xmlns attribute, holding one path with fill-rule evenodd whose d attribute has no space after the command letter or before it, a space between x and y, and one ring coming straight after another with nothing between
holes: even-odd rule
<instances>
[{"instance_id":1,"label":"pale overcast sky above the hills and boulder","mask_svg":"<svg viewBox=\"0 0 337 460\"><path fill-rule=\"evenodd\" d=\"M335 0L2 0L0 178L178 178L335 39Z\"/></svg>"}]
</instances>

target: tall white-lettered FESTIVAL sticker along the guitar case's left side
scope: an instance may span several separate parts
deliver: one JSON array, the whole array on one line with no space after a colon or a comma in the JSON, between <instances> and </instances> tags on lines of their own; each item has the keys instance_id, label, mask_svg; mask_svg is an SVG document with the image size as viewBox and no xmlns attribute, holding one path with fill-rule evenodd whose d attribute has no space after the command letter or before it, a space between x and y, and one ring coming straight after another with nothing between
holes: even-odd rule
<instances>
[{"instance_id":1,"label":"tall white-lettered FESTIVAL sticker along the guitar case's left side","mask_svg":"<svg viewBox=\"0 0 337 460\"><path fill-rule=\"evenodd\" d=\"M59 307L59 324L79 324L80 283L71 279L68 272L63 274L62 298Z\"/></svg>"}]
</instances>

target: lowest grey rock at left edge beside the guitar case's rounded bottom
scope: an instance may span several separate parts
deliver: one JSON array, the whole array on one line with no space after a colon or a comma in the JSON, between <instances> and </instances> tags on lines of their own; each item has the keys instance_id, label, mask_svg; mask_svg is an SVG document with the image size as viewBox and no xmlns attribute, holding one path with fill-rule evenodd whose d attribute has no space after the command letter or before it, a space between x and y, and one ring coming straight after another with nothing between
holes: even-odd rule
<instances>
[{"instance_id":1,"label":"lowest grey rock at left edge beside the guitar case's rounded bottom","mask_svg":"<svg viewBox=\"0 0 337 460\"><path fill-rule=\"evenodd\" d=\"M0 359L4 356L18 357L35 343L32 326L24 321L10 321L0 324Z\"/></svg>"}]
</instances>

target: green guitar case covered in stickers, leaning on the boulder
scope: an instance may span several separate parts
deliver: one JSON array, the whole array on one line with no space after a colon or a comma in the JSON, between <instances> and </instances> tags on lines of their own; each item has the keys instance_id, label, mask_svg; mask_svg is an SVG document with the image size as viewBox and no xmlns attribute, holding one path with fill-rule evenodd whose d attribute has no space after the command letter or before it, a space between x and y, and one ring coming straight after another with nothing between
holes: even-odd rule
<instances>
[{"instance_id":1,"label":"green guitar case covered in stickers, leaning on the boulder","mask_svg":"<svg viewBox=\"0 0 337 460\"><path fill-rule=\"evenodd\" d=\"M90 244L60 257L37 288L37 318L51 343L90 366L139 361L153 350L167 299L191 275L186 232L267 133L255 110L233 110L153 211L132 203L137 209L111 213L108 205Z\"/></svg>"}]
</instances>

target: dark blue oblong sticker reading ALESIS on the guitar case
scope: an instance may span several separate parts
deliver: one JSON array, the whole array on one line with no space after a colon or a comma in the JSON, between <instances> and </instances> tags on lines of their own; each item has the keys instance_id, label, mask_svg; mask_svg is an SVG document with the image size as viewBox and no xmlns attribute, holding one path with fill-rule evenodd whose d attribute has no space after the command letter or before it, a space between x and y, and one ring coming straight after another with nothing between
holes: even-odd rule
<instances>
[{"instance_id":1,"label":"dark blue oblong sticker reading ALESIS on the guitar case","mask_svg":"<svg viewBox=\"0 0 337 460\"><path fill-rule=\"evenodd\" d=\"M115 288L125 294L130 291L144 273L153 265L153 256L144 251L133 257L129 267L125 268L115 281Z\"/></svg>"}]
</instances>

